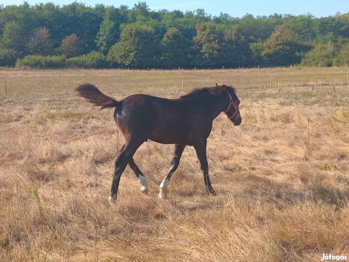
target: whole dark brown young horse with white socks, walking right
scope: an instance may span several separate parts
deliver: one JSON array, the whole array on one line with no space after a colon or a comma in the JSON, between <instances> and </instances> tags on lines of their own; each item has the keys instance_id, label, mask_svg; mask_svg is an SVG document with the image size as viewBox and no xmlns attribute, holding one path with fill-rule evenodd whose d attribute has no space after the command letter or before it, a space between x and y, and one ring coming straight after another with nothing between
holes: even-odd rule
<instances>
[{"instance_id":1,"label":"whole dark brown young horse with white socks, walking right","mask_svg":"<svg viewBox=\"0 0 349 262\"><path fill-rule=\"evenodd\" d=\"M133 161L138 147L148 139L162 144L175 144L169 172L160 184L159 198L165 197L170 177L177 169L186 145L195 148L207 192L216 194L208 176L206 139L211 132L213 119L221 112L227 114L234 125L241 123L240 101L232 87L216 84L215 87L194 89L178 99L137 94L120 102L89 84L78 86L76 91L81 97L101 106L101 109L115 107L114 119L125 138L125 144L115 160L109 195L111 204L117 196L120 176L127 163L136 174L141 190L148 191L147 178Z\"/></svg>"}]
</instances>

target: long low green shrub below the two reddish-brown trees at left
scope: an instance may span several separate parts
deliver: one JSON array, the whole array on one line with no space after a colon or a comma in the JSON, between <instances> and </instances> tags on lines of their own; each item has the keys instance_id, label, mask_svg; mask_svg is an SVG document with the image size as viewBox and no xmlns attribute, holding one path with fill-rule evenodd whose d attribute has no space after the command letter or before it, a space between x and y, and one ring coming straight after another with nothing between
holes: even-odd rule
<instances>
[{"instance_id":1,"label":"long low green shrub below the two reddish-brown trees at left","mask_svg":"<svg viewBox=\"0 0 349 262\"><path fill-rule=\"evenodd\" d=\"M66 56L41 56L39 54L30 54L17 59L16 67L59 69L65 67L66 60Z\"/></svg>"}]
</instances>

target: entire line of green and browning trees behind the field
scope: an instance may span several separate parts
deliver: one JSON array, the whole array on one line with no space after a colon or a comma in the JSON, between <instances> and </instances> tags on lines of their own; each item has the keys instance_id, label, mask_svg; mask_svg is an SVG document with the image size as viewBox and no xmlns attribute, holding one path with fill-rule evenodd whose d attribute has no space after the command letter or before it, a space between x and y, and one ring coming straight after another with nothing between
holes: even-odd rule
<instances>
[{"instance_id":1,"label":"entire line of green and browning trees behind the field","mask_svg":"<svg viewBox=\"0 0 349 262\"><path fill-rule=\"evenodd\" d=\"M0 66L236 68L349 64L349 13L232 17L73 2L0 6Z\"/></svg>"}]
</instances>

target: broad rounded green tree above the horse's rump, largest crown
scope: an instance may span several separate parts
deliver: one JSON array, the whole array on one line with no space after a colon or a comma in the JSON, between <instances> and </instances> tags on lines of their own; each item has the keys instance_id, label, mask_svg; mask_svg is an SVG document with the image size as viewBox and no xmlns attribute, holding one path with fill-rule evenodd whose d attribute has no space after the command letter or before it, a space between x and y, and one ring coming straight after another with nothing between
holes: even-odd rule
<instances>
[{"instance_id":1,"label":"broad rounded green tree above the horse's rump, largest crown","mask_svg":"<svg viewBox=\"0 0 349 262\"><path fill-rule=\"evenodd\" d=\"M127 24L122 28L120 41L108 52L109 61L136 68L157 65L158 39L154 29L138 23Z\"/></svg>"}]
</instances>

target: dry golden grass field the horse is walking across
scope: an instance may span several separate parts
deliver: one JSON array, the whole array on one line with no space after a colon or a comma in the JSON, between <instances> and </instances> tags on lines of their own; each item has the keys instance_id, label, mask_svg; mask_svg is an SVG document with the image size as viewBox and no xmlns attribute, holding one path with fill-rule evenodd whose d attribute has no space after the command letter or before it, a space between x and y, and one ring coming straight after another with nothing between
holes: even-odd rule
<instances>
[{"instance_id":1,"label":"dry golden grass field the horse is walking across","mask_svg":"<svg viewBox=\"0 0 349 262\"><path fill-rule=\"evenodd\" d=\"M0 70L0 261L349 258L347 69ZM123 138L112 109L76 97L81 82L118 100L235 86L242 124L220 115L208 138L219 194L187 146L158 199L173 145L148 141L134 156L148 194L127 167L111 206Z\"/></svg>"}]
</instances>

